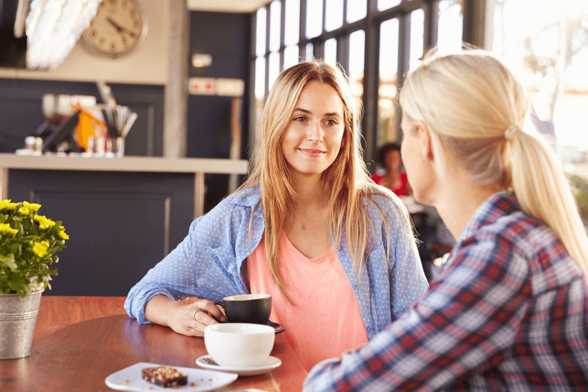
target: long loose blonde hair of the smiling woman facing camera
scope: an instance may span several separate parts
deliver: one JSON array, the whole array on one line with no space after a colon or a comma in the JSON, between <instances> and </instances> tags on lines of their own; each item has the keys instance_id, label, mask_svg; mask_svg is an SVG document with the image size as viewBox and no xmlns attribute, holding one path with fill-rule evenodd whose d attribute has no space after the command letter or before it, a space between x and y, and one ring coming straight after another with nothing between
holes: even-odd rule
<instances>
[{"instance_id":1,"label":"long loose blonde hair of the smiling woman facing camera","mask_svg":"<svg viewBox=\"0 0 588 392\"><path fill-rule=\"evenodd\" d=\"M368 247L368 230L373 231L372 221L367 215L362 197L368 200L375 194L390 197L400 206L405 222L410 226L409 215L400 199L370 180L368 169L362 159L362 147L356 135L356 99L343 73L338 68L319 61L299 63L286 69L278 76L269 92L254 148L253 165L248 179L236 192L260 186L260 202L263 204L265 215L266 259L276 286L288 299L285 284L279 274L279 266L282 263L280 234L285 217L295 209L298 195L282 153L281 138L290 123L300 92L313 81L332 86L343 101L345 129L342 148L332 165L322 173L322 191L329 200L330 237L335 241L336 249L345 229L349 250L353 256L353 269L361 272L360 267L365 262ZM382 213L377 204L375 206ZM389 252L386 255L388 257Z\"/></svg>"}]
</instances>

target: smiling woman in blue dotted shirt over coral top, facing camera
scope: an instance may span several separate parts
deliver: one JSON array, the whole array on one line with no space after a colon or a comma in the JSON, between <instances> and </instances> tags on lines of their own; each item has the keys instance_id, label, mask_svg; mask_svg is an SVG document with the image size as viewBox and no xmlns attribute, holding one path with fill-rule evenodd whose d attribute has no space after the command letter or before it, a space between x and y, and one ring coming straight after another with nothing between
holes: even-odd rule
<instances>
[{"instance_id":1,"label":"smiling woman in blue dotted shirt over coral top, facing camera","mask_svg":"<svg viewBox=\"0 0 588 392\"><path fill-rule=\"evenodd\" d=\"M427 283L405 207L369 179L354 103L332 66L284 71L248 179L131 289L129 316L202 336L223 320L212 301L271 294L270 320L308 369L400 317Z\"/></svg>"}]
</instances>

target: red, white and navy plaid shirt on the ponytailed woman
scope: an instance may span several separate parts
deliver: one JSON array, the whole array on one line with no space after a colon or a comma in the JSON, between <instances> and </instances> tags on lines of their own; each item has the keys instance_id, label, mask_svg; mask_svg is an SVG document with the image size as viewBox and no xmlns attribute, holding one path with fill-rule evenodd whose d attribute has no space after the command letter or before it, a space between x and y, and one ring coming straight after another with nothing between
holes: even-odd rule
<instances>
[{"instance_id":1,"label":"red, white and navy plaid shirt on the ponytailed woman","mask_svg":"<svg viewBox=\"0 0 588 392\"><path fill-rule=\"evenodd\" d=\"M587 291L552 230L496 193L428 292L359 350L316 365L304 390L588 390Z\"/></svg>"}]
</instances>

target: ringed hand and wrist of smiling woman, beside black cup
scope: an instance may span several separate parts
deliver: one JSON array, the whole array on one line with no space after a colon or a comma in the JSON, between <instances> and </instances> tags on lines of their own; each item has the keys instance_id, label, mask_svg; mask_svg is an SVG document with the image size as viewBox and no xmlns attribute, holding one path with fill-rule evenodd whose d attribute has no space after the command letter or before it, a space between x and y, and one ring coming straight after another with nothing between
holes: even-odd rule
<instances>
[{"instance_id":1,"label":"ringed hand and wrist of smiling woman, beside black cup","mask_svg":"<svg viewBox=\"0 0 588 392\"><path fill-rule=\"evenodd\" d=\"M159 294L145 305L145 319L186 336L204 336L204 327L217 323L212 316L226 320L222 311L205 299L185 304Z\"/></svg>"}]
</instances>

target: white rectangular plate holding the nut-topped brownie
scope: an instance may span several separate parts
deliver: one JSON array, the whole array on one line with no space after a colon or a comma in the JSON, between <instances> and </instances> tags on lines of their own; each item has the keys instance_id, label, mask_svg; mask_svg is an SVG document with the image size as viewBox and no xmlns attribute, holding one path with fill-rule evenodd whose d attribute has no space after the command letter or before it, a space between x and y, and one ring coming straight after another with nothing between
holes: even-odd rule
<instances>
[{"instance_id":1,"label":"white rectangular plate holding the nut-topped brownie","mask_svg":"<svg viewBox=\"0 0 588 392\"><path fill-rule=\"evenodd\" d=\"M188 384L179 388L174 387L160 387L158 385L148 383L141 378L141 371L145 367L159 367L172 366L161 365L156 363L139 362L133 366L125 367L122 370L112 373L106 377L104 382L109 388L117 391L131 391L131 392L152 392L152 391L183 391L183 392L206 392L212 391L216 388L221 388L229 385L237 379L237 375L233 373L223 373L222 371L202 370L192 367L178 367L173 368L188 374ZM196 383L196 386L191 386Z\"/></svg>"}]
</instances>

